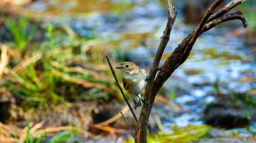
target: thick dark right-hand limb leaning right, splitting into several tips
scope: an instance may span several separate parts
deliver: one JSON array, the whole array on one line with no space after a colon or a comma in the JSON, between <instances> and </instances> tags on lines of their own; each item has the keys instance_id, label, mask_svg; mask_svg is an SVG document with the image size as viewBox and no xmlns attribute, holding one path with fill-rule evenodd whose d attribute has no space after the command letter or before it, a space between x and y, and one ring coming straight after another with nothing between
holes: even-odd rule
<instances>
[{"instance_id":1,"label":"thick dark right-hand limb leaning right, splitting into several tips","mask_svg":"<svg viewBox=\"0 0 256 143\"><path fill-rule=\"evenodd\" d=\"M241 12L232 13L230 15L224 15L229 10L244 2L244 0L235 0L227 4L225 7L220 8L216 13L213 11L223 2L223 0L216 0L214 4L208 8L207 13L205 13L204 18L196 29L191 32L187 38L178 45L178 47L172 52L172 54L166 59L165 64L163 64L162 69L159 71L157 78L154 83L154 94L162 87L163 83L171 76L174 70L179 67L190 55L190 51L196 42L196 39L207 30L215 27L222 22L240 19L243 22L243 26L247 27L247 21ZM213 14L212 14L213 13ZM224 16L222 16L224 15Z\"/></svg>"}]
</instances>

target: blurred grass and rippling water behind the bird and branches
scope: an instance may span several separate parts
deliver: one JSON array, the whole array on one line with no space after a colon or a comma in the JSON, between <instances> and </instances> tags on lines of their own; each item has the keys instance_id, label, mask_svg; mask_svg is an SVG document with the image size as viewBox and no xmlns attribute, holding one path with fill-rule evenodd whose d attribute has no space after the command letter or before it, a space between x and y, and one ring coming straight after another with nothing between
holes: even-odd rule
<instances>
[{"instance_id":1,"label":"blurred grass and rippling water behind the bird and branches","mask_svg":"<svg viewBox=\"0 0 256 143\"><path fill-rule=\"evenodd\" d=\"M178 16L161 64L213 1L172 2ZM119 112L134 121L105 55L113 65L132 61L149 71L167 5L1 0L0 142L133 142ZM202 34L165 82L149 142L256 141L256 4L247 0L238 10L247 28L236 20Z\"/></svg>"}]
</instances>

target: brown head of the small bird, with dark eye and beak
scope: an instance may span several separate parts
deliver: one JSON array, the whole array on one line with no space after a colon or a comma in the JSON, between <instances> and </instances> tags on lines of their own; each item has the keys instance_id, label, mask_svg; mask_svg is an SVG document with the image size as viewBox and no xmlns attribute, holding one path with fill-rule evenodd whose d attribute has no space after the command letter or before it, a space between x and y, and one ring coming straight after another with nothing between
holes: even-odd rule
<instances>
[{"instance_id":1,"label":"brown head of the small bird, with dark eye and beak","mask_svg":"<svg viewBox=\"0 0 256 143\"><path fill-rule=\"evenodd\" d=\"M120 69L123 74L133 75L138 73L140 67L132 62L122 62L116 68Z\"/></svg>"}]
</instances>

